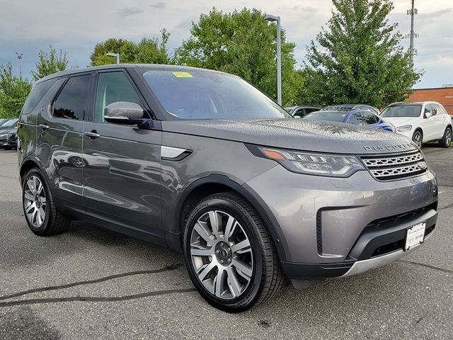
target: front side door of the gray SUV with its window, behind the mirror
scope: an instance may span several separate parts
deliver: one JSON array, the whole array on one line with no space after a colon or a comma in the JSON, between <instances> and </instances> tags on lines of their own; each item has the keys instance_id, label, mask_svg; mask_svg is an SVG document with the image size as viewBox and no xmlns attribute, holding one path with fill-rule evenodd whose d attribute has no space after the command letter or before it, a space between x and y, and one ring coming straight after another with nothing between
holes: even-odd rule
<instances>
[{"instance_id":1,"label":"front side door of the gray SUV with its window, behind the mirror","mask_svg":"<svg viewBox=\"0 0 453 340\"><path fill-rule=\"evenodd\" d=\"M83 148L86 211L96 219L162 236L161 131L105 122L105 106L113 102L137 103L150 112L125 69L98 72L95 84Z\"/></svg>"}]
</instances>

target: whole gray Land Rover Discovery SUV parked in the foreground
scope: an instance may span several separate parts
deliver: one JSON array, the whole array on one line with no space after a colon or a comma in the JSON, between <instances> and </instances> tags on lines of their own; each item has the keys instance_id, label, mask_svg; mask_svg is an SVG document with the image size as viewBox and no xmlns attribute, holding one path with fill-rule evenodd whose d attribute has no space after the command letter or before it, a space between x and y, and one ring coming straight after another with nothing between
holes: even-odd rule
<instances>
[{"instance_id":1,"label":"whole gray Land Rover Discovery SUV parked in the foreground","mask_svg":"<svg viewBox=\"0 0 453 340\"><path fill-rule=\"evenodd\" d=\"M411 140L289 117L222 72L53 74L18 123L25 220L42 236L86 220L181 251L202 297L229 312L430 237L437 182Z\"/></svg>"}]
</instances>

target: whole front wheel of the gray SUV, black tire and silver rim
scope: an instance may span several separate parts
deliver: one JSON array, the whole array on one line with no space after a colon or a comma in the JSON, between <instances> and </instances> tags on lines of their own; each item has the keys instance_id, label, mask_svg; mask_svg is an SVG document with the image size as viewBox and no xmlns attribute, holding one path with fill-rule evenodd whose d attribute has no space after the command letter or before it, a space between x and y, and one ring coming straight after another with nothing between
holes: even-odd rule
<instances>
[{"instance_id":1,"label":"whole front wheel of the gray SUV, black tire and silver rim","mask_svg":"<svg viewBox=\"0 0 453 340\"><path fill-rule=\"evenodd\" d=\"M217 233L212 230L212 220L219 225ZM220 310L242 312L257 307L285 285L277 251L263 220L236 193L217 193L197 203L183 237L185 263L193 285Z\"/></svg>"}]
</instances>

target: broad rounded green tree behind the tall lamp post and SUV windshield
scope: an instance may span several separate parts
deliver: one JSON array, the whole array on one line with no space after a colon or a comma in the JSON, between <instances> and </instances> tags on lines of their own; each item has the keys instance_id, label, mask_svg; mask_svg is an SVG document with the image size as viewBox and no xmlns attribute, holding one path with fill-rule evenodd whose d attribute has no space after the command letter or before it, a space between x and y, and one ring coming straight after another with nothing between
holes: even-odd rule
<instances>
[{"instance_id":1,"label":"broad rounded green tree behind the tall lamp post and SUV windshield","mask_svg":"<svg viewBox=\"0 0 453 340\"><path fill-rule=\"evenodd\" d=\"M192 23L190 38L175 53L177 64L236 74L277 98L276 28L256 9L224 13L213 8ZM293 103L301 74L294 71L294 44L282 30L282 101Z\"/></svg>"}]
</instances>

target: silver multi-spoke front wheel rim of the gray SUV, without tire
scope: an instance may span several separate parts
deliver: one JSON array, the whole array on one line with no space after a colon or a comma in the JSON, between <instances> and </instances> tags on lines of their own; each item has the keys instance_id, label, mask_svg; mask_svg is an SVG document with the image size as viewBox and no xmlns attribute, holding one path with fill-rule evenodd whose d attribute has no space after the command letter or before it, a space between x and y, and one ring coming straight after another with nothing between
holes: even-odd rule
<instances>
[{"instance_id":1,"label":"silver multi-spoke front wheel rim of the gray SUV, without tire","mask_svg":"<svg viewBox=\"0 0 453 340\"><path fill-rule=\"evenodd\" d=\"M190 235L195 276L217 298L231 300L245 292L253 276L253 252L240 223L220 210L205 212Z\"/></svg>"}]
</instances>

